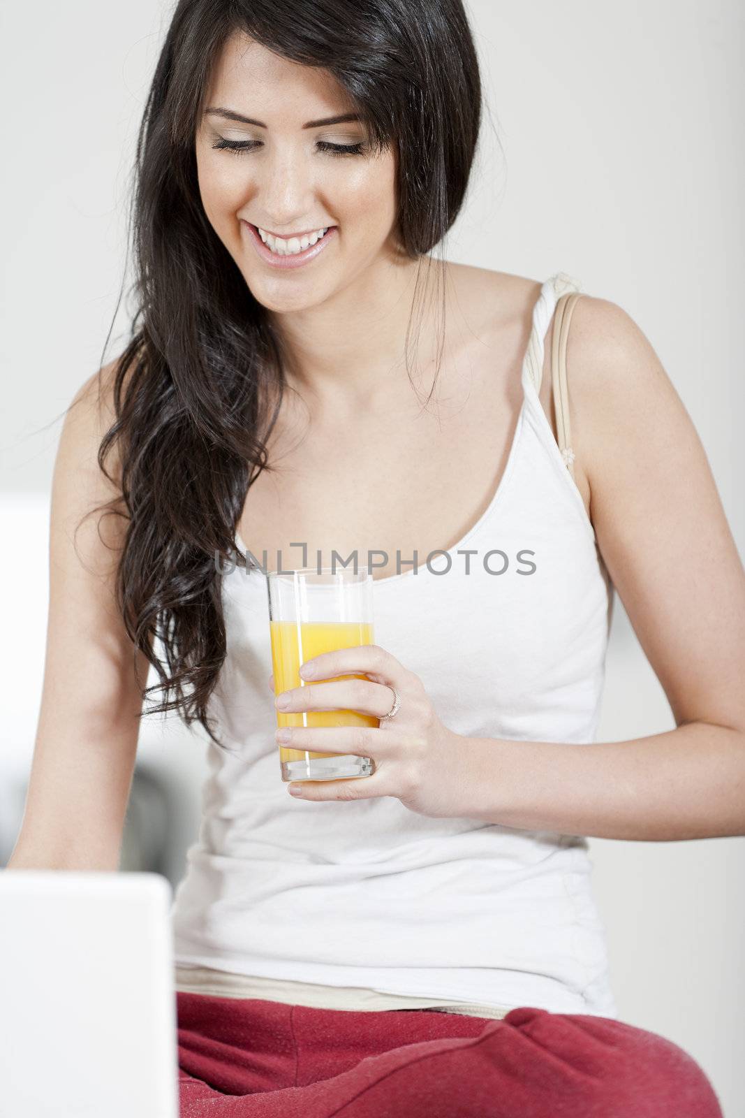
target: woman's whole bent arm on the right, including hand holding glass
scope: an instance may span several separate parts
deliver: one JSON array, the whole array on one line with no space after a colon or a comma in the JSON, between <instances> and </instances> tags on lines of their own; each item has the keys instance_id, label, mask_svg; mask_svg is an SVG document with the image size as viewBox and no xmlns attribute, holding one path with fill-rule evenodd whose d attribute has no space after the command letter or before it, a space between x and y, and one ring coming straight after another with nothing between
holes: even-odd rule
<instances>
[{"instance_id":1,"label":"woman's whole bent arm on the right, including hand holding glass","mask_svg":"<svg viewBox=\"0 0 745 1118\"><path fill-rule=\"evenodd\" d=\"M293 794L398 796L423 815L601 839L745 834L745 571L704 447L620 306L577 301L566 364L575 467L590 489L595 539L677 729L582 745L465 737L442 724L418 675L363 645L309 661L300 674L318 682L286 692L284 709L382 718L392 685L400 713L378 729L285 729L277 740L370 756L375 771L296 781ZM345 673L367 680L334 681Z\"/></svg>"}]
</instances>

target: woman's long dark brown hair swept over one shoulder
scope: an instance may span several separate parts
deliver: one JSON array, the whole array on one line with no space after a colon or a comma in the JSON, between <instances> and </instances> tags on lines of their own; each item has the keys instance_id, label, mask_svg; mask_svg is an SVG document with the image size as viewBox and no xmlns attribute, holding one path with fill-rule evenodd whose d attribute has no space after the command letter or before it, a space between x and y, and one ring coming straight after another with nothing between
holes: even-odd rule
<instances>
[{"instance_id":1,"label":"woman's long dark brown hair swept over one shoulder","mask_svg":"<svg viewBox=\"0 0 745 1118\"><path fill-rule=\"evenodd\" d=\"M111 480L114 452L120 464L121 498L103 508L126 520L117 604L135 663L144 652L160 680L151 688L139 680L143 698L161 693L145 713L178 711L217 745L208 704L227 651L220 560L235 557L249 485L271 468L267 438L287 367L266 309L204 214L197 179L203 97L235 32L329 72L364 116L370 144L395 145L397 233L412 259L429 262L460 210L481 115L461 0L175 7L139 130L130 216L136 310L114 367L115 420L98 463Z\"/></svg>"}]
</instances>

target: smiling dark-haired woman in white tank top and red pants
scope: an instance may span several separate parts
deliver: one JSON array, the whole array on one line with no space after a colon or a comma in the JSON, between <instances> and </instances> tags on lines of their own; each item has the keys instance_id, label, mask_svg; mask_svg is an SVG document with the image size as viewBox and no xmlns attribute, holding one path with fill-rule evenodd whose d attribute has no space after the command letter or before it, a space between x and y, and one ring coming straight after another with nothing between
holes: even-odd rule
<instances>
[{"instance_id":1,"label":"smiling dark-haired woman in white tank top and red pants","mask_svg":"<svg viewBox=\"0 0 745 1118\"><path fill-rule=\"evenodd\" d=\"M459 0L182 0L157 64L132 340L59 447L11 864L117 868L155 665L156 709L210 735L173 912L187 1118L720 1115L618 1020L585 836L745 830L743 569L624 311L430 255L479 114ZM286 709L380 724L293 745L375 770L293 788L247 552L334 550L374 555L378 643ZM677 729L595 743L614 589Z\"/></svg>"}]
</instances>

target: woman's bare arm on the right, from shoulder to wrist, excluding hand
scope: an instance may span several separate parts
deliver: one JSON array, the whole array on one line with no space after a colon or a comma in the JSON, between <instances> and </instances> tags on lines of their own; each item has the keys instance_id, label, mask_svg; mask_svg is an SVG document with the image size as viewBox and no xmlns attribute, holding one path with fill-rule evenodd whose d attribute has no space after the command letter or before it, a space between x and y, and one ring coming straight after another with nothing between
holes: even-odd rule
<instances>
[{"instance_id":1,"label":"woman's bare arm on the right, from shoulder to wrist, excluding hand","mask_svg":"<svg viewBox=\"0 0 745 1118\"><path fill-rule=\"evenodd\" d=\"M598 546L677 728L590 745L475 739L490 755L478 816L602 839L745 834L745 571L706 453L620 306L577 301L566 366Z\"/></svg>"}]
</instances>

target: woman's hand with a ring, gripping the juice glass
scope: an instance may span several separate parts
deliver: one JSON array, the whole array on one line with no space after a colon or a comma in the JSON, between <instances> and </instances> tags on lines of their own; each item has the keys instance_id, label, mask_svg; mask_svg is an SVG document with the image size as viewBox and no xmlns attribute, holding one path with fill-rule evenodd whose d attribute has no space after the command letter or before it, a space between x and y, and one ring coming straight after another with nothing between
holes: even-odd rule
<instances>
[{"instance_id":1,"label":"woman's hand with a ring, gripping the juice glass","mask_svg":"<svg viewBox=\"0 0 745 1118\"><path fill-rule=\"evenodd\" d=\"M360 675L366 680L337 680L334 675ZM367 799L397 796L412 812L429 816L465 813L466 756L469 738L448 730L437 717L422 681L375 644L324 652L306 661L300 676L313 686L293 688L277 695L284 713L312 710L355 710L383 718L393 705L400 708L379 727L283 727L278 745L324 754L359 754L374 761L371 776L340 780L302 780L288 790L303 799ZM316 680L328 682L316 683ZM391 684L391 686L389 686ZM274 676L270 678L274 691ZM288 704L280 705L287 699ZM287 737L285 737L285 735Z\"/></svg>"}]
</instances>

